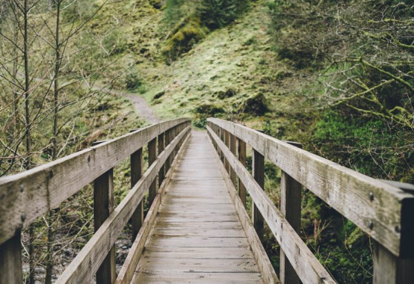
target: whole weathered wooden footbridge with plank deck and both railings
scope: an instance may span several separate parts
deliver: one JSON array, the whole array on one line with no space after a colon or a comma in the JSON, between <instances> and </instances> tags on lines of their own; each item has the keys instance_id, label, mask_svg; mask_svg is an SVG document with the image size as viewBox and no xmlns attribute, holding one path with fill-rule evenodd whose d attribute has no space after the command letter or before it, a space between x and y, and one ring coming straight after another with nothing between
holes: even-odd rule
<instances>
[{"instance_id":1,"label":"whole weathered wooden footbridge with plank deck and both railings","mask_svg":"<svg viewBox=\"0 0 414 284\"><path fill-rule=\"evenodd\" d=\"M0 179L0 283L23 283L21 230L89 183L95 234L56 283L335 283L297 234L303 188L371 236L374 283L413 283L412 185L371 179L229 121L208 119L206 128L164 121ZM112 169L128 158L131 190L114 208ZM263 190L265 159L282 170L279 208ZM135 241L116 274L115 241L128 221ZM264 223L281 247L279 278L261 243Z\"/></svg>"}]
</instances>

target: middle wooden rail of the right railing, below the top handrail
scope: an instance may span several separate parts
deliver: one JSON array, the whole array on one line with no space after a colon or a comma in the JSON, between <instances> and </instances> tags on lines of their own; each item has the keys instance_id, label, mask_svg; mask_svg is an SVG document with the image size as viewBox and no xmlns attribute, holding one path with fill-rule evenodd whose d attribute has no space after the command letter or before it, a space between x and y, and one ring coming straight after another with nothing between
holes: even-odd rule
<instances>
[{"instance_id":1,"label":"middle wooden rail of the right railing, below the top handrail","mask_svg":"<svg viewBox=\"0 0 414 284\"><path fill-rule=\"evenodd\" d=\"M296 234L293 227L290 226L282 212L275 207L273 202L270 201L266 193L262 190L262 187L250 176L248 170L244 168L244 165L233 156L230 150L226 149L226 145L219 140L219 137L210 128L207 128L207 130L212 134L237 176L239 176L239 179L246 186L246 190L248 190L252 200L255 202L257 209L262 213L264 220L266 220L270 230L273 232L282 250L284 250L290 263L292 263L301 281L303 283L335 283L331 275Z\"/></svg>"}]
</instances>

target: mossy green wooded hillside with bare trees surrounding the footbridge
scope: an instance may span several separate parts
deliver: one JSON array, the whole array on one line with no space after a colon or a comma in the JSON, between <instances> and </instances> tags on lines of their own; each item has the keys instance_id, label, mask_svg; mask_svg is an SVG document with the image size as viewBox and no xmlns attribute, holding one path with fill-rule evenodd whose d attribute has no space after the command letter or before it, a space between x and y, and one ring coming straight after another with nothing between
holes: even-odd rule
<instances>
[{"instance_id":1,"label":"mossy green wooded hillside with bare trees surrounding the footbridge","mask_svg":"<svg viewBox=\"0 0 414 284\"><path fill-rule=\"evenodd\" d=\"M395 0L3 0L0 175L151 123L133 95L159 119L236 121L414 183L413 28L414 6ZM115 169L117 203L128 168ZM279 182L266 163L275 204ZM92 236L90 189L25 232L27 283L51 283ZM306 190L301 234L339 283L371 283L371 240ZM277 269L270 231L265 247Z\"/></svg>"}]
</instances>

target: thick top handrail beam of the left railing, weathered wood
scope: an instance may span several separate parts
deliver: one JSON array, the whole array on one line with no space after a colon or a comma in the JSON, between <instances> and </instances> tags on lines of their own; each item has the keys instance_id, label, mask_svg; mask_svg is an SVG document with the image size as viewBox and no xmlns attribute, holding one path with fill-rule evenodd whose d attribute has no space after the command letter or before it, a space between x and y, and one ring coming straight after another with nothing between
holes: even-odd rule
<instances>
[{"instance_id":1,"label":"thick top handrail beam of the left railing, weathered wood","mask_svg":"<svg viewBox=\"0 0 414 284\"><path fill-rule=\"evenodd\" d=\"M0 243L113 168L148 141L188 119L164 121L0 179ZM24 221L21 216L26 218Z\"/></svg>"}]
</instances>

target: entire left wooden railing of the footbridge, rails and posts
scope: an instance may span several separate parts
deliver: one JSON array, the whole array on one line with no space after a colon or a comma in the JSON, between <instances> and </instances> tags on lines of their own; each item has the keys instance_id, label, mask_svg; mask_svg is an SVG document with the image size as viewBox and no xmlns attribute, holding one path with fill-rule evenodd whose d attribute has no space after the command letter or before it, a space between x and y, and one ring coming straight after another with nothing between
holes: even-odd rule
<instances>
[{"instance_id":1,"label":"entire left wooden railing of the footbridge, rails and posts","mask_svg":"<svg viewBox=\"0 0 414 284\"><path fill-rule=\"evenodd\" d=\"M89 183L94 185L95 234L66 267L57 283L115 283L115 241L132 219L134 254L128 254L118 283L131 278L131 270L148 223L160 203L168 171L190 133L189 119L164 121L103 141L81 152L41 165L27 172L0 179L0 283L23 283L21 230L42 214L58 207ZM144 174L142 149L148 145L148 170ZM130 157L131 190L114 208L113 168ZM158 177L158 179L157 179ZM152 203L144 221L143 197ZM134 246L133 245L133 246ZM137 247L138 246L138 247ZM136 266L136 265L135 265Z\"/></svg>"}]
</instances>

